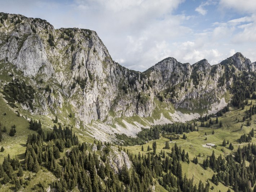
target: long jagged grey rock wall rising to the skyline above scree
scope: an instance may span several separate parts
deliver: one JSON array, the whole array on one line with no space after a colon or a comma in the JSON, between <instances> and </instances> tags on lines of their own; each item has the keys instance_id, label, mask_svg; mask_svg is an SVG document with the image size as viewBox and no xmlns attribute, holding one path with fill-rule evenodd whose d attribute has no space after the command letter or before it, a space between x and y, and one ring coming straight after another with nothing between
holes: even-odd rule
<instances>
[{"instance_id":1,"label":"long jagged grey rock wall rising to the skyline above scree","mask_svg":"<svg viewBox=\"0 0 256 192\"><path fill-rule=\"evenodd\" d=\"M111 124L134 114L150 117L157 100L175 108L207 108L230 89L228 69L252 72L256 66L236 53L214 66L207 60L190 65L169 57L137 72L113 61L94 31L54 29L46 20L16 14L8 14L0 25L0 63L14 65L22 73L14 76L29 79L36 89L31 112L73 113L77 127L93 120Z\"/></svg>"}]
</instances>

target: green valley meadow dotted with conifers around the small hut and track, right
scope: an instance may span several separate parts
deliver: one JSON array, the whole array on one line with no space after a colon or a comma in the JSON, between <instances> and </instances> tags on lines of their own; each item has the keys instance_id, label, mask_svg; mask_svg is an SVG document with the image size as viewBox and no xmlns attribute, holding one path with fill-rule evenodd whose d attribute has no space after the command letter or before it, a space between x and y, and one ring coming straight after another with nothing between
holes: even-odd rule
<instances>
[{"instance_id":1,"label":"green valley meadow dotted with conifers around the small hut and track, right","mask_svg":"<svg viewBox=\"0 0 256 192\"><path fill-rule=\"evenodd\" d=\"M249 103L251 100L249 100ZM253 100L253 103L256 104L256 100ZM187 139L180 139L179 140L173 140L177 142L178 146L181 146L182 149L185 149L185 151L189 152L189 158L190 160L193 160L195 156L198 157L198 154L200 153L202 157L198 157L199 164L195 165L194 163L190 162L190 164L182 163L182 171L183 174L186 174L187 177L193 178L194 182L198 183L199 180L202 180L203 182L206 182L207 179L210 180L210 187L214 186L213 191L227 191L228 187L225 187L223 184L219 184L219 186L215 186L211 182L212 175L214 172L208 168L207 170L204 170L202 167L203 160L206 159L207 156L210 156L212 154L212 151L215 151L216 157L219 155L226 156L227 154L231 153L231 150L228 149L228 146L222 147L222 141L226 139L226 141L229 140L234 145L234 151L238 148L238 139L240 136L244 133L248 134L253 127L256 125L256 115L252 116L251 126L243 126L243 130L240 131L241 125L246 125L246 122L242 122L242 118L246 111L246 109L249 109L250 106L246 106L244 110L241 109L231 109L230 112L224 114L224 116L219 117L219 122L222 121L223 127L219 128L218 124L213 125L211 128L205 128L205 127L199 127L199 131L197 132L190 132L187 135ZM236 121L236 118L240 119L240 122ZM215 118L213 118L215 120ZM198 123L200 125L200 123ZM214 129L215 134L212 135L212 130ZM207 133L207 136L204 136L205 132ZM207 137L207 140L204 140ZM165 146L165 141L168 141L168 139L164 137L160 137L160 139L156 140L157 144L157 153L160 153L160 151ZM256 142L256 138L252 138L252 142ZM215 143L217 145L217 149L208 149L206 147L203 147L203 144L206 143ZM147 145L150 145L152 147L153 141L149 141L149 143L144 145L144 149L147 149ZM174 146L174 143L170 143L170 146ZM141 151L141 146L128 146L125 147L133 154L138 154L139 152L142 154L148 153L147 151ZM224 149L224 152L221 150ZM152 152L152 151L150 151ZM171 153L171 150L165 150L165 154ZM161 191L159 189L159 191Z\"/></svg>"}]
</instances>

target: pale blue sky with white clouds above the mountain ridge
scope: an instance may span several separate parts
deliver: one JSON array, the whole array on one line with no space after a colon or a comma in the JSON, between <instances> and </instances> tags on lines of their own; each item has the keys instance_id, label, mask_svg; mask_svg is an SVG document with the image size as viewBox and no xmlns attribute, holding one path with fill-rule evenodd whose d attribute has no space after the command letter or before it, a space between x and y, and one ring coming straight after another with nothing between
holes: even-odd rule
<instances>
[{"instance_id":1,"label":"pale blue sky with white clouds above the mountain ridge","mask_svg":"<svg viewBox=\"0 0 256 192\"><path fill-rule=\"evenodd\" d=\"M113 60L144 71L166 57L256 61L256 0L0 0L0 12L98 33Z\"/></svg>"}]
</instances>

